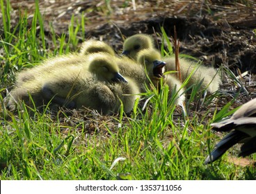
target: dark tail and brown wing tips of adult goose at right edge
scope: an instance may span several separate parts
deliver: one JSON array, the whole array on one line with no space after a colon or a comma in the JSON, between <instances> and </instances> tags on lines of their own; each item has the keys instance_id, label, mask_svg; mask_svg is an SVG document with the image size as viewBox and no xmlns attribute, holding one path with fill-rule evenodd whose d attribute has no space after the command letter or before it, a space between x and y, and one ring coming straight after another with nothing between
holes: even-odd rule
<instances>
[{"instance_id":1,"label":"dark tail and brown wing tips of adult goose at right edge","mask_svg":"<svg viewBox=\"0 0 256 194\"><path fill-rule=\"evenodd\" d=\"M213 126L213 130L218 132L231 132L215 145L214 150L205 159L205 164L216 161L237 143L243 143L239 157L246 157L255 153L256 98L242 105L229 119L212 123L211 126Z\"/></svg>"}]
</instances>

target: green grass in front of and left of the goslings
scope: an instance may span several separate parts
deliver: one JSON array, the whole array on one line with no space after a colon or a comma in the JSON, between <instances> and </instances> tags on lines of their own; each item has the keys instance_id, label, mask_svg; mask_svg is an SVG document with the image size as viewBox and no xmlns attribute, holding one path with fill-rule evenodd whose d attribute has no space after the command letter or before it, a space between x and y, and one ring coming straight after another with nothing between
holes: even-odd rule
<instances>
[{"instance_id":1,"label":"green grass in front of and left of the goslings","mask_svg":"<svg viewBox=\"0 0 256 194\"><path fill-rule=\"evenodd\" d=\"M173 105L174 99L168 100L166 85L160 92L150 88L142 94L147 104L136 104L129 116L122 109L115 116L65 109L56 113L45 109L39 113L25 105L15 113L8 112L3 97L6 89L12 89L15 73L39 64L44 58L75 51L78 32L86 33L84 21L79 23L72 17L69 35L58 36L51 30L49 37L54 48L48 50L43 18L38 1L35 2L31 28L27 28L26 12L20 14L17 26L10 28L12 9L8 1L0 0L4 24L0 39L1 180L255 179L255 168L227 162L228 154L214 164L203 164L209 148L220 139L209 125L232 114L233 100L220 111L210 111L209 107L214 107L210 104L212 98L221 97L214 94L202 100L196 87L186 101L186 110L205 111L204 114L184 116L182 109ZM164 32L161 36L167 40ZM172 53L170 42L168 51L161 48L163 55Z\"/></svg>"}]
</instances>

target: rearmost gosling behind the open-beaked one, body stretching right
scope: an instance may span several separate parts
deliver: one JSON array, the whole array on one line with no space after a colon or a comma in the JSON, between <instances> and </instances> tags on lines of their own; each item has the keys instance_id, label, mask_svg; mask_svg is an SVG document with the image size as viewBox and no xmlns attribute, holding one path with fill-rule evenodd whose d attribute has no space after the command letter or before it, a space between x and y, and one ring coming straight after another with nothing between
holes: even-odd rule
<instances>
[{"instance_id":1,"label":"rearmost gosling behind the open-beaked one, body stretching right","mask_svg":"<svg viewBox=\"0 0 256 194\"><path fill-rule=\"evenodd\" d=\"M139 51L145 48L154 48L152 37L145 34L133 35L125 40L122 54L136 60ZM162 60L166 62L166 71L176 71L174 57L167 57ZM200 86L201 89L206 89L211 94L218 91L221 85L221 77L216 69L195 64L184 58L179 58L179 64L182 82L184 82L186 78L189 78L186 87L191 87L192 85L202 82Z\"/></svg>"}]
</instances>

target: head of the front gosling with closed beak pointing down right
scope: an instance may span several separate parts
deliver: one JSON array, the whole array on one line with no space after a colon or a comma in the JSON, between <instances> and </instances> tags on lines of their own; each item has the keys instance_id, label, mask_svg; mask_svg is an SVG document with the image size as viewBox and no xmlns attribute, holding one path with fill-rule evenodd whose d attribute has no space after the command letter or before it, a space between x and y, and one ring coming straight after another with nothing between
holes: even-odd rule
<instances>
[{"instance_id":1,"label":"head of the front gosling with closed beak pointing down right","mask_svg":"<svg viewBox=\"0 0 256 194\"><path fill-rule=\"evenodd\" d=\"M91 73L95 73L97 79L105 82L127 83L127 80L119 73L118 65L112 55L104 53L91 54L88 60L88 70Z\"/></svg>"}]
</instances>

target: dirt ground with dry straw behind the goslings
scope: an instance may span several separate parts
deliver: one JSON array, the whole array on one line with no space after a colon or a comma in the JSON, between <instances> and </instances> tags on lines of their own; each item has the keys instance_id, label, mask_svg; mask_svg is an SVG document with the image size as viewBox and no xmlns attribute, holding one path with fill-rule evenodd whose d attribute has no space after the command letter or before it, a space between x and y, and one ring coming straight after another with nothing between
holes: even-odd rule
<instances>
[{"instance_id":1,"label":"dirt ground with dry straw behind the goslings","mask_svg":"<svg viewBox=\"0 0 256 194\"><path fill-rule=\"evenodd\" d=\"M12 24L15 26L19 12L28 10L32 21L34 0L10 0ZM243 91L234 107L256 96L256 3L248 1L81 1L46 0L40 2L40 12L45 19L45 35L51 49L49 22L58 35L66 33L70 19L81 17L86 22L86 39L102 39L120 53L125 37L136 33L161 34L160 27L168 37L177 28L180 53L192 55L207 66L228 67L243 82ZM235 3L234 3L235 2ZM1 17L1 15L0 15ZM2 26L2 24L1 24ZM1 32L1 31L0 31ZM155 36L157 37L157 36ZM77 35L81 43L81 34ZM161 39L156 38L156 44ZM74 48L75 49L75 48ZM240 89L233 80L223 75L221 87L226 98L225 105Z\"/></svg>"}]
</instances>

